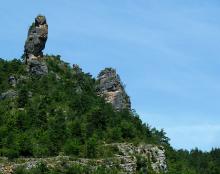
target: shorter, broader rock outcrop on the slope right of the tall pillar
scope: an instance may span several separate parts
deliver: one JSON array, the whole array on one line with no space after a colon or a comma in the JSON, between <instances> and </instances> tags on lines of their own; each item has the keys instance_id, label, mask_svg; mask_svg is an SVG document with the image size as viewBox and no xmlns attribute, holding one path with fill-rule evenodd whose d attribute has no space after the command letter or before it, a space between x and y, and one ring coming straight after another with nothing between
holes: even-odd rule
<instances>
[{"instance_id":1,"label":"shorter, broader rock outcrop on the slope right of the tall pillar","mask_svg":"<svg viewBox=\"0 0 220 174\"><path fill-rule=\"evenodd\" d=\"M97 91L116 110L131 109L130 98L115 69L106 68L99 73Z\"/></svg>"}]
</instances>

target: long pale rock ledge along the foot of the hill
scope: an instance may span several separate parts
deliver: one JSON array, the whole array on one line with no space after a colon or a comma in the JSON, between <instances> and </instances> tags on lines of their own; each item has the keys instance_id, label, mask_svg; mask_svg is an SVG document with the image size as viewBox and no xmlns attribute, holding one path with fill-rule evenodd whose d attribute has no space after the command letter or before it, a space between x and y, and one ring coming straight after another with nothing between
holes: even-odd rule
<instances>
[{"instance_id":1,"label":"long pale rock ledge along the foot of the hill","mask_svg":"<svg viewBox=\"0 0 220 174\"><path fill-rule=\"evenodd\" d=\"M20 158L16 159L16 162L10 162L7 158L2 158L0 159L0 172L3 174L12 173L18 167L30 170L39 163L46 164L48 168L59 168L60 170L78 164L89 166L91 170L99 166L105 166L110 169L117 168L122 174L149 173L150 171L158 174L167 172L165 150L162 146L146 144L135 146L131 143L114 143L105 144L104 148L114 148L115 153L111 157L99 159L57 156L49 158ZM140 157L143 159L141 163Z\"/></svg>"}]
</instances>

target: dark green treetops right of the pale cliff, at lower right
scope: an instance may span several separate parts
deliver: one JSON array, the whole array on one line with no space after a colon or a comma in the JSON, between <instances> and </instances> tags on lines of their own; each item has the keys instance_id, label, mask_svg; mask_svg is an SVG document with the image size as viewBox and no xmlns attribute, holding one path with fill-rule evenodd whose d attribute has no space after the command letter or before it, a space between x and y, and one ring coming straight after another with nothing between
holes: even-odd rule
<instances>
[{"instance_id":1,"label":"dark green treetops right of the pale cliff, at lower right","mask_svg":"<svg viewBox=\"0 0 220 174\"><path fill-rule=\"evenodd\" d=\"M166 149L169 172L168 174L218 174L220 173L220 149L211 152L202 152L193 149L174 150Z\"/></svg>"}]
</instances>

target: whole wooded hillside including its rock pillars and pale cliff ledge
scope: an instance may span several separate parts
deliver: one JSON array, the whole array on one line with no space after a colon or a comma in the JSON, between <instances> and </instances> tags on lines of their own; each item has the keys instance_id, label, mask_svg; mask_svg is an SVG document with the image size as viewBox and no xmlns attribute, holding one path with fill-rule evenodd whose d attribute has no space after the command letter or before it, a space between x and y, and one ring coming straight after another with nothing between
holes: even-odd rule
<instances>
[{"instance_id":1,"label":"whole wooded hillside including its rock pillars and pale cliff ledge","mask_svg":"<svg viewBox=\"0 0 220 174\"><path fill-rule=\"evenodd\" d=\"M47 34L38 16L23 60L0 59L0 172L220 173L220 150L175 151L142 123L115 69L43 55Z\"/></svg>"}]
</instances>

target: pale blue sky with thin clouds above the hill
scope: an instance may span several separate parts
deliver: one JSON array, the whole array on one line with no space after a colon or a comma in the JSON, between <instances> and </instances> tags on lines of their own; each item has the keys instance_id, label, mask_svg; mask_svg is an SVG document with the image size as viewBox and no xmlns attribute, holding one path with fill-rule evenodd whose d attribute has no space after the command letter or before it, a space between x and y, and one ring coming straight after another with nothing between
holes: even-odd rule
<instances>
[{"instance_id":1,"label":"pale blue sky with thin clouds above the hill","mask_svg":"<svg viewBox=\"0 0 220 174\"><path fill-rule=\"evenodd\" d=\"M220 1L2 1L0 57L22 55L37 14L49 24L44 53L93 76L116 68L132 107L175 148L220 146Z\"/></svg>"}]
</instances>

